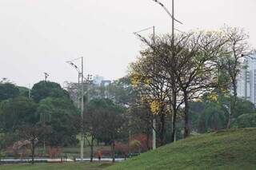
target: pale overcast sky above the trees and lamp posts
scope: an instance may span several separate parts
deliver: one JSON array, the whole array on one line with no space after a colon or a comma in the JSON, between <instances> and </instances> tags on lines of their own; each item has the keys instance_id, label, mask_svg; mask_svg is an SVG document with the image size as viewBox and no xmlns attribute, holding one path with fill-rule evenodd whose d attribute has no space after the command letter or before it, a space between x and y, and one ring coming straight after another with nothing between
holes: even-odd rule
<instances>
[{"instance_id":1,"label":"pale overcast sky above the trees and lamp posts","mask_svg":"<svg viewBox=\"0 0 256 170\"><path fill-rule=\"evenodd\" d=\"M161 2L171 10L171 0ZM255 0L175 0L175 14L178 30L244 27L256 47ZM77 81L66 61L83 56L86 74L118 79L141 48L132 33L149 26L170 33L152 0L0 0L0 78L29 86L47 72L63 85Z\"/></svg>"}]
</instances>

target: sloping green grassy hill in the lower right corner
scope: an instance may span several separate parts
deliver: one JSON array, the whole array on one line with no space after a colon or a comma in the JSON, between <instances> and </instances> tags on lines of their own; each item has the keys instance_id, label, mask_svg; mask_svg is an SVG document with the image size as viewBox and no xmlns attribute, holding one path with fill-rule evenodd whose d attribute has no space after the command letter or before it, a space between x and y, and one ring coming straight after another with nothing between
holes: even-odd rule
<instances>
[{"instance_id":1,"label":"sloping green grassy hill in the lower right corner","mask_svg":"<svg viewBox=\"0 0 256 170\"><path fill-rule=\"evenodd\" d=\"M193 136L106 169L256 169L256 128Z\"/></svg>"}]
</instances>

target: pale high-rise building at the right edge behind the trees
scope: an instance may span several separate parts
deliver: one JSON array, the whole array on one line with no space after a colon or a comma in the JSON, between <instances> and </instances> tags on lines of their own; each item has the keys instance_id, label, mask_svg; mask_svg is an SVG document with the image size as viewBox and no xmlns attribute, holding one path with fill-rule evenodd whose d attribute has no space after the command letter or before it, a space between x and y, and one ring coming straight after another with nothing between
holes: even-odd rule
<instances>
[{"instance_id":1,"label":"pale high-rise building at the right edge behind the trees","mask_svg":"<svg viewBox=\"0 0 256 170\"><path fill-rule=\"evenodd\" d=\"M246 69L242 69L238 77L238 97L256 105L256 53L247 57L244 65Z\"/></svg>"}]
</instances>

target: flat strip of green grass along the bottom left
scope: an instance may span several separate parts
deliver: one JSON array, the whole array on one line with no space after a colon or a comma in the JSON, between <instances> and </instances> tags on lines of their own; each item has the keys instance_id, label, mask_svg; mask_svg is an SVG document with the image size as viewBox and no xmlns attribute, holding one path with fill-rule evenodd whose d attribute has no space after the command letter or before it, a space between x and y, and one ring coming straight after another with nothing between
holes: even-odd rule
<instances>
[{"instance_id":1,"label":"flat strip of green grass along the bottom left","mask_svg":"<svg viewBox=\"0 0 256 170\"><path fill-rule=\"evenodd\" d=\"M111 164L97 163L59 163L59 164L6 164L0 165L1 170L98 170Z\"/></svg>"}]
</instances>

